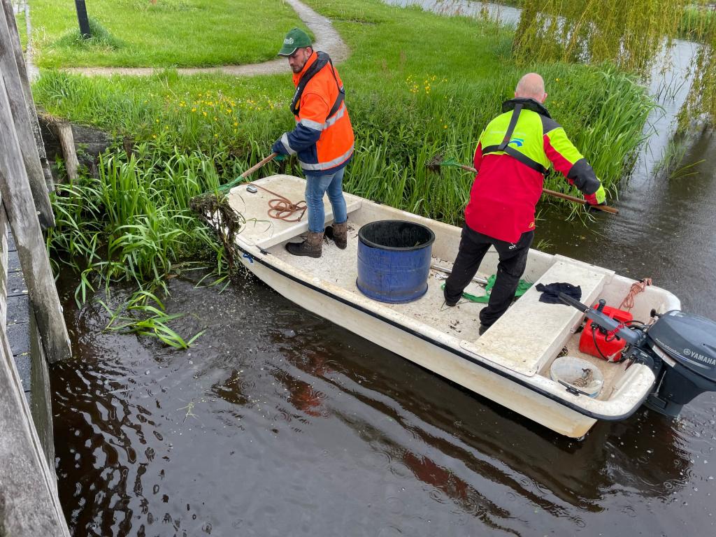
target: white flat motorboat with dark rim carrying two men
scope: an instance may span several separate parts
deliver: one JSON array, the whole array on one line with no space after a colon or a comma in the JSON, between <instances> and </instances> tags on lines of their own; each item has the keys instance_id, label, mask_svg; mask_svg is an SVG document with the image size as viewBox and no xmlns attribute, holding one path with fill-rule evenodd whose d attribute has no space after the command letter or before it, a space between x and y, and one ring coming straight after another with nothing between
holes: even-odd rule
<instances>
[{"instance_id":1,"label":"white flat motorboat with dark rim carrying two men","mask_svg":"<svg viewBox=\"0 0 716 537\"><path fill-rule=\"evenodd\" d=\"M272 175L253 184L294 203L304 199L305 181L291 175ZM583 437L596 420L623 420L652 391L657 380L652 367L639 362L628 367L628 361L606 362L579 352L576 332L584 313L563 304L544 304L534 287L481 336L478 313L485 304L465 301L446 307L442 270L431 268L427 292L407 304L369 299L357 288L357 234L364 224L402 220L427 226L435 233L432 261L448 270L458 252L460 228L347 194L348 247L340 250L329 241L321 258L296 257L284 245L307 231L307 218L269 218L271 198L275 196L261 189L249 193L246 185L229 193L231 208L246 219L236 236L237 257L279 294L312 313L568 437ZM327 200L325 209L328 224L333 217ZM495 274L497 262L491 249L478 276ZM619 306L634 284L609 269L537 250L530 251L523 278L535 284L579 285L585 304L605 299L611 306ZM467 291L484 294L478 284ZM679 307L672 293L649 286L637 295L632 314L646 321L652 309L661 314ZM570 357L585 359L601 372L604 384L597 397L568 390L551 379L551 364L565 348Z\"/></svg>"}]
</instances>

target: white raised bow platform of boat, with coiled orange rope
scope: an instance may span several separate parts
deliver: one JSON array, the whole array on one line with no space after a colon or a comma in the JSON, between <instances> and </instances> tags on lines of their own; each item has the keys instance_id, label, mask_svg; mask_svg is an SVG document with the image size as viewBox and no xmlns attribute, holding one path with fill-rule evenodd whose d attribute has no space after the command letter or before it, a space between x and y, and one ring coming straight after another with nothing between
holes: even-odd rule
<instances>
[{"instance_id":1,"label":"white raised bow platform of boat, with coiled orange rope","mask_svg":"<svg viewBox=\"0 0 716 537\"><path fill-rule=\"evenodd\" d=\"M271 175L263 179L252 181L257 187L268 188L276 194L280 194L291 200L291 203L298 203L304 200L306 181L293 175ZM358 196L344 193L346 200L346 208L348 213L357 211L362 203ZM241 238L247 243L253 243L260 248L268 249L276 244L288 241L290 238L306 233L309 229L308 215L304 215L298 222L290 222L285 220L276 220L269 218L269 200L278 196L268 193L258 188L258 192L250 193L246 191L246 184L239 185L231 189L228 194L228 203L234 211L239 214L259 214L265 215L266 218L261 220L247 221L246 225L241 229ZM325 223L333 221L333 209L328 200L328 196L324 196L323 207L326 213ZM290 216L290 219L297 218L301 213ZM267 231L271 230L268 235Z\"/></svg>"}]
</instances>

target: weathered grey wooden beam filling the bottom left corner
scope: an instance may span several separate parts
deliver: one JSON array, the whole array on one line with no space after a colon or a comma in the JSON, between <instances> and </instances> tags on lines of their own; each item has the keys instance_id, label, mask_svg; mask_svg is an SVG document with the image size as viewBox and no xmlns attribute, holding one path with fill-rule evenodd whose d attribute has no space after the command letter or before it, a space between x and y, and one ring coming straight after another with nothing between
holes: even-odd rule
<instances>
[{"instance_id":1,"label":"weathered grey wooden beam filling the bottom left corner","mask_svg":"<svg viewBox=\"0 0 716 537\"><path fill-rule=\"evenodd\" d=\"M54 471L32 425L4 327L0 329L0 535L69 537Z\"/></svg>"}]
</instances>

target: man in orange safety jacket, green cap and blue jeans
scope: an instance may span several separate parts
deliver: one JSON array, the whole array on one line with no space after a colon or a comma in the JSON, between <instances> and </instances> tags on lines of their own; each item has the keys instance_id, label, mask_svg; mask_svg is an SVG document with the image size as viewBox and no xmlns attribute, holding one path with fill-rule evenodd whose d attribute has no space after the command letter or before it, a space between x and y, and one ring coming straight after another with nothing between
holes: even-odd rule
<instances>
[{"instance_id":1,"label":"man in orange safety jacket, green cap and blue jeans","mask_svg":"<svg viewBox=\"0 0 716 537\"><path fill-rule=\"evenodd\" d=\"M286 34L279 56L289 59L296 92L291 112L296 128L284 132L271 147L278 160L296 155L306 174L306 206L309 233L301 243L288 243L294 256L321 256L325 212L324 194L333 208L333 226L326 234L339 248L347 245L347 212L343 197L343 173L353 155L354 137L344 102L345 91L328 54L316 52L311 38L301 29Z\"/></svg>"}]
</instances>

